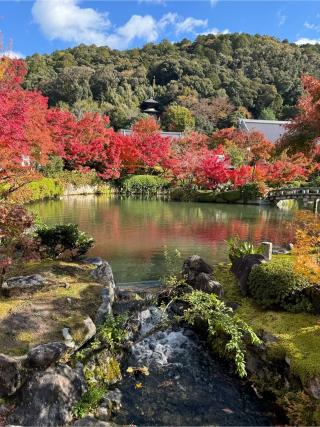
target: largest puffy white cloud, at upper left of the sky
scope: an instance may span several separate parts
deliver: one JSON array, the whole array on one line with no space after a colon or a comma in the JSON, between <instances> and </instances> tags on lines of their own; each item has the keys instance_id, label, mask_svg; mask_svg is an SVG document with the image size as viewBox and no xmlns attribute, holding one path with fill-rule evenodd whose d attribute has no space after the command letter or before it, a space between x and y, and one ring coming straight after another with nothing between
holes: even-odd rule
<instances>
[{"instance_id":1,"label":"largest puffy white cloud, at upper left of the sky","mask_svg":"<svg viewBox=\"0 0 320 427\"><path fill-rule=\"evenodd\" d=\"M107 14L81 8L78 0L36 0L32 15L50 40L102 45L111 26Z\"/></svg>"}]
</instances>

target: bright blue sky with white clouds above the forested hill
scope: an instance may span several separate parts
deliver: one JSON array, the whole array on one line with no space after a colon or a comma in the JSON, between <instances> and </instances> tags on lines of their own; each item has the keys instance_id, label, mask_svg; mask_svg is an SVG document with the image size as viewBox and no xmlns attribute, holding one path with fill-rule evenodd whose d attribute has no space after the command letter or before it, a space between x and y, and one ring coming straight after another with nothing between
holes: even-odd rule
<instances>
[{"instance_id":1,"label":"bright blue sky with white clouds above the forested hill","mask_svg":"<svg viewBox=\"0 0 320 427\"><path fill-rule=\"evenodd\" d=\"M320 43L320 1L0 0L0 30L3 51L22 56L80 43L126 49L219 32Z\"/></svg>"}]
</instances>

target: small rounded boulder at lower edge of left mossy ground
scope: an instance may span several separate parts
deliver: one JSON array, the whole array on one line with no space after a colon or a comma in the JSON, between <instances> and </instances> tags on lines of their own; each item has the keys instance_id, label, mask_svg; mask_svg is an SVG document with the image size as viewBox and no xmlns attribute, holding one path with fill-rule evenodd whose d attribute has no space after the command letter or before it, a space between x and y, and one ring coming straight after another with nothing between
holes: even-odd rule
<instances>
[{"instance_id":1,"label":"small rounded boulder at lower edge of left mossy ground","mask_svg":"<svg viewBox=\"0 0 320 427\"><path fill-rule=\"evenodd\" d=\"M46 369L59 360L67 351L63 342L51 342L34 347L27 354L29 368Z\"/></svg>"}]
</instances>

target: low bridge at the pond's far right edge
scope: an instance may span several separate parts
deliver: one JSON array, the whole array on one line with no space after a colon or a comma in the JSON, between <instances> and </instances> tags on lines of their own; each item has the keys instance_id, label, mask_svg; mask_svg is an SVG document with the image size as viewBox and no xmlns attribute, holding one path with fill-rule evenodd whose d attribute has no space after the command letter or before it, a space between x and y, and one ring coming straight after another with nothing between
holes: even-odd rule
<instances>
[{"instance_id":1,"label":"low bridge at the pond's far right edge","mask_svg":"<svg viewBox=\"0 0 320 427\"><path fill-rule=\"evenodd\" d=\"M279 188L271 190L266 196L270 202L279 202L280 200L304 200L314 202L314 211L318 212L320 202L320 187L304 188Z\"/></svg>"}]
</instances>

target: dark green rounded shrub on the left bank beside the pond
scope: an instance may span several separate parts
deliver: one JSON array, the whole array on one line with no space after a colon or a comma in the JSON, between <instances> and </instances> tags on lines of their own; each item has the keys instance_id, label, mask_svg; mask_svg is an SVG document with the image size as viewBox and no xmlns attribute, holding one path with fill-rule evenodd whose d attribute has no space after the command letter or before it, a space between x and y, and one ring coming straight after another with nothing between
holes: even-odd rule
<instances>
[{"instance_id":1,"label":"dark green rounded shrub on the left bank beside the pond","mask_svg":"<svg viewBox=\"0 0 320 427\"><path fill-rule=\"evenodd\" d=\"M94 239L80 231L76 224L43 225L36 229L35 235L47 255L53 258L66 255L66 251L71 252L71 257L84 255L94 243Z\"/></svg>"}]
</instances>

